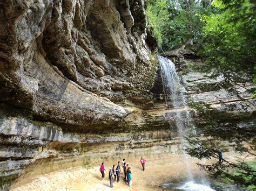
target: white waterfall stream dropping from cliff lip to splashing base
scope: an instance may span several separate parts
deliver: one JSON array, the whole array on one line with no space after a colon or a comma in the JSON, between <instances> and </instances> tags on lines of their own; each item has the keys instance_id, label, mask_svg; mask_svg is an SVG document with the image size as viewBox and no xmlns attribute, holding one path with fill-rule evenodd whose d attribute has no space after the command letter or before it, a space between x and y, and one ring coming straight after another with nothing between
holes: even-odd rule
<instances>
[{"instance_id":1,"label":"white waterfall stream dropping from cliff lip to splashing base","mask_svg":"<svg viewBox=\"0 0 256 191\"><path fill-rule=\"evenodd\" d=\"M186 99L184 96L185 88L180 83L180 77L176 73L176 67L174 63L171 60L164 58L163 56L158 56L158 61L160 63L161 78L163 81L164 95L167 106L169 108L185 108L185 111L177 112L175 116L175 123L177 126L178 135L181 139L181 152L184 156L188 180L184 185L181 185L176 189L213 190L208 187L208 184L205 182L204 178L200 180L200 184L194 181L193 173L190 169L189 156L184 152L184 148L187 144L186 139L184 138L187 135L186 130L193 129L191 125L192 123L190 111L187 107Z\"/></svg>"}]
</instances>

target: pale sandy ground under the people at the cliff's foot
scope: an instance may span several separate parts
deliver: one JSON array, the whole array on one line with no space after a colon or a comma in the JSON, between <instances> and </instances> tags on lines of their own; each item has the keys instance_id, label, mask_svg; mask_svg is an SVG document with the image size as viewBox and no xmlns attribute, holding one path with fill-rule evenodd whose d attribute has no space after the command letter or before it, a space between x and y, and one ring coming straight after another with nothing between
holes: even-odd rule
<instances>
[{"instance_id":1,"label":"pale sandy ground under the people at the cliff's foot","mask_svg":"<svg viewBox=\"0 0 256 191\"><path fill-rule=\"evenodd\" d=\"M133 159L130 161L126 159L126 162L129 162L131 167L132 188L126 185L123 172L120 182L114 183L114 188L110 188L108 171L110 168L112 169L113 162L104 161L105 168L107 169L104 181L101 181L99 164L92 168L78 167L39 175L34 180L31 180L30 183L11 190L162 190L159 186L164 182L188 176L187 166L190 166L191 172L194 175L199 176L202 174L196 165L198 160L189 158L187 161L190 164L185 164L183 157L180 155L150 159L146 162L145 171L142 171L139 158L138 160Z\"/></svg>"}]
</instances>

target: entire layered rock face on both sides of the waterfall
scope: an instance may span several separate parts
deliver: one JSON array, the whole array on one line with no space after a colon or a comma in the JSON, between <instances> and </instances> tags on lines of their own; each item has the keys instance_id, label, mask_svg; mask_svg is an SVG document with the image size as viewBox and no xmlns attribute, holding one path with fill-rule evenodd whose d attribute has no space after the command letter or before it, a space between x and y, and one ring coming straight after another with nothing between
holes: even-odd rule
<instances>
[{"instance_id":1,"label":"entire layered rock face on both sides of the waterfall","mask_svg":"<svg viewBox=\"0 0 256 191\"><path fill-rule=\"evenodd\" d=\"M143 0L0 2L2 189L104 159L179 152L175 116L185 108L166 107L145 8ZM199 62L179 67L188 101L242 112L239 99L211 88L221 79L188 63ZM241 95L253 114L254 100Z\"/></svg>"}]
</instances>

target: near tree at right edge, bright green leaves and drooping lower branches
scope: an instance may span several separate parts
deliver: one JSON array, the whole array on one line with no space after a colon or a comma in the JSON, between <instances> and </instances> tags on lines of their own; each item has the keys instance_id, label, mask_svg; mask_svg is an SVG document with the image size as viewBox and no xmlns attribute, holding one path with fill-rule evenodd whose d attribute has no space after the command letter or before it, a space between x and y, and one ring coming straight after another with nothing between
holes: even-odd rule
<instances>
[{"instance_id":1,"label":"near tree at right edge, bright green leaves and drooping lower branches","mask_svg":"<svg viewBox=\"0 0 256 191\"><path fill-rule=\"evenodd\" d=\"M253 77L255 78L256 6L250 0L216 0L212 4L220 12L210 16L201 15L204 26L198 55L204 59L205 65L197 69L213 79L223 77L224 81L219 85L228 88L230 93L239 95L237 87L245 88L243 83L253 83ZM247 91L252 95L254 90ZM194 136L188 139L188 154L199 159L217 158L216 148L221 147L221 143L225 141L232 141L239 153L250 152L242 142L256 146L253 141L256 134L254 126L239 126L239 123L251 122L255 118L254 113L246 111L246 105L241 104L245 111L240 114L219 111L205 103L193 103L191 107L198 114L197 130L207 138L202 140ZM214 177L226 177L241 186L254 185L255 188L256 170L245 162L233 164L225 161L225 164L217 162L212 165L198 165Z\"/></svg>"}]
</instances>

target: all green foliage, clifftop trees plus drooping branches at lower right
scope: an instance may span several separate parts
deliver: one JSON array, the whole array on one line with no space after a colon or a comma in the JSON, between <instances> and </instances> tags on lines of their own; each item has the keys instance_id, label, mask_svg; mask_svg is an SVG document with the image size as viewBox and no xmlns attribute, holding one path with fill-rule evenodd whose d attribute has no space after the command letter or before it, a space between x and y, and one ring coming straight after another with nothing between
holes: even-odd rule
<instances>
[{"instance_id":1,"label":"all green foliage, clifftop trees plus drooping branches at lower right","mask_svg":"<svg viewBox=\"0 0 256 191\"><path fill-rule=\"evenodd\" d=\"M212 2L212 4L211 4ZM239 95L237 87L246 82L256 86L256 4L253 0L150 0L149 22L164 51L186 45L198 52L205 65L194 67L208 77L223 77L218 87ZM217 87L217 88L218 88ZM247 89L250 95L253 88ZM218 111L208 104L194 103L197 110L197 132L205 139L194 136L187 139L187 153L199 159L218 158L217 147L221 142L234 142L239 153L250 152L242 142L250 142L256 134L253 127L240 128L240 122L252 121L246 111L234 114ZM231 108L232 110L232 108ZM251 142L255 147L255 142ZM232 164L200 165L212 175L223 176L225 181L254 188L255 169L245 162ZM232 168L232 171L230 169Z\"/></svg>"}]
</instances>

